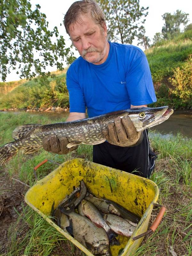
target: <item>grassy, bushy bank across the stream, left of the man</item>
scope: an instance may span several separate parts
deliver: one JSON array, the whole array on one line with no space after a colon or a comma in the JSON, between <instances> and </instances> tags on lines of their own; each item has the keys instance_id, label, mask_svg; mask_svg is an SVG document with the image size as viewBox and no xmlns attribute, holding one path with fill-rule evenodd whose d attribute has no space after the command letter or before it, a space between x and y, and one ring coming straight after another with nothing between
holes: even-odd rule
<instances>
[{"instance_id":1,"label":"grassy, bushy bank across the stream, left of the man","mask_svg":"<svg viewBox=\"0 0 192 256\"><path fill-rule=\"evenodd\" d=\"M0 109L68 107L66 73L49 80L50 84L44 85L41 85L38 80L37 82L31 80L3 94L0 97Z\"/></svg>"}]
</instances>

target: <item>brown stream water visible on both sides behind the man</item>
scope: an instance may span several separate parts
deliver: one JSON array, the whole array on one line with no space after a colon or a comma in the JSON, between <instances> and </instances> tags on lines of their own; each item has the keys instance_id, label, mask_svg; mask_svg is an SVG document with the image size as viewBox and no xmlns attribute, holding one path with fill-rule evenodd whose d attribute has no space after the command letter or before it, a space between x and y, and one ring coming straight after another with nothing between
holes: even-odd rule
<instances>
[{"instance_id":1,"label":"brown stream water visible on both sides behind the man","mask_svg":"<svg viewBox=\"0 0 192 256\"><path fill-rule=\"evenodd\" d=\"M18 114L21 111L15 111L13 113ZM2 111L1 113L8 113L7 111ZM48 115L49 117L60 119L62 116L67 117L66 112L28 112L29 115ZM184 137L192 138L192 110L186 111L174 111L172 116L169 117L167 121L162 124L156 125L151 130L156 130L156 132L162 135L174 134L176 135L180 132Z\"/></svg>"}]
</instances>

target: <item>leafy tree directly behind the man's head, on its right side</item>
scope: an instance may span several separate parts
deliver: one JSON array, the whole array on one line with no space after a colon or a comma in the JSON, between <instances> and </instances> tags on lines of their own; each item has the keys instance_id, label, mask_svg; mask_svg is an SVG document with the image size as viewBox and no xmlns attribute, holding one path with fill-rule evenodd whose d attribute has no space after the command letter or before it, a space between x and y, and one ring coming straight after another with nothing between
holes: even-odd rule
<instances>
[{"instance_id":1,"label":"leafy tree directly behind the man's head, on its right side","mask_svg":"<svg viewBox=\"0 0 192 256\"><path fill-rule=\"evenodd\" d=\"M122 44L132 44L140 29L147 8L140 7L139 0L97 0L102 8L108 27L108 38Z\"/></svg>"}]
</instances>

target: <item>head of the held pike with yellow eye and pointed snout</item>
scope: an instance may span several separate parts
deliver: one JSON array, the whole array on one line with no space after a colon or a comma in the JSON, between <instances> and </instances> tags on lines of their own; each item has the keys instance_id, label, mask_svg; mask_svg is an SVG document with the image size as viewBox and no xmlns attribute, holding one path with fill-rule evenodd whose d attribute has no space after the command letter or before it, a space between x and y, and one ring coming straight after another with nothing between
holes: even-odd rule
<instances>
[{"instance_id":1,"label":"head of the held pike with yellow eye and pointed snout","mask_svg":"<svg viewBox=\"0 0 192 256\"><path fill-rule=\"evenodd\" d=\"M173 113L173 109L168 109L168 106L159 108L132 108L123 116L129 116L134 124L137 132L153 127L166 121Z\"/></svg>"}]
</instances>

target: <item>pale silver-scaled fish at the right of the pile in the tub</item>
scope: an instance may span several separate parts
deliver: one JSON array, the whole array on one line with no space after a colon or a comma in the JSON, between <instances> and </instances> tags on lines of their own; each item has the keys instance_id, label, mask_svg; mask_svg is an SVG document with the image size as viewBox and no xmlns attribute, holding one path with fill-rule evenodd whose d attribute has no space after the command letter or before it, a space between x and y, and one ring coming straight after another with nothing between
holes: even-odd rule
<instances>
[{"instance_id":1,"label":"pale silver-scaled fish at the right of the pile in the tub","mask_svg":"<svg viewBox=\"0 0 192 256\"><path fill-rule=\"evenodd\" d=\"M117 234L122 236L131 236L135 227L132 226L127 220L115 214L105 214L104 219L109 227Z\"/></svg>"}]
</instances>

